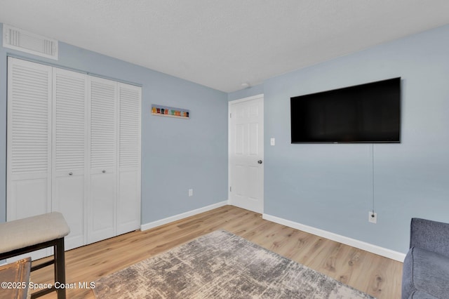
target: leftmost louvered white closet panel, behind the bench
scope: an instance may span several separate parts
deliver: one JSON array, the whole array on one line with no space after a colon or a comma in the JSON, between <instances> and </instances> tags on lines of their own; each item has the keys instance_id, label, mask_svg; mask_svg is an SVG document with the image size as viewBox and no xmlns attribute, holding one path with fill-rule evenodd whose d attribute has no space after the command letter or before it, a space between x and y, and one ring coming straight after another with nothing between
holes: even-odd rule
<instances>
[{"instance_id":1,"label":"leftmost louvered white closet panel, behind the bench","mask_svg":"<svg viewBox=\"0 0 449 299\"><path fill-rule=\"evenodd\" d=\"M51 74L51 67L8 58L7 221L51 211Z\"/></svg>"}]
</instances>

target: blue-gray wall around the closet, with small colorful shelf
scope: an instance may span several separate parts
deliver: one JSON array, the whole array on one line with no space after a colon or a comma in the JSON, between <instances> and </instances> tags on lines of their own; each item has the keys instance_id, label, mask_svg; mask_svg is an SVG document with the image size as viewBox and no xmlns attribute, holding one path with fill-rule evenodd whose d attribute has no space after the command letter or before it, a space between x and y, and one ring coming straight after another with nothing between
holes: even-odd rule
<instances>
[{"instance_id":1,"label":"blue-gray wall around the closet, with small colorful shelf","mask_svg":"<svg viewBox=\"0 0 449 299\"><path fill-rule=\"evenodd\" d=\"M59 46L58 61L0 47L0 222L6 220L8 53L142 86L142 224L227 199L226 93L68 44ZM189 109L191 117L154 117L152 104ZM190 188L193 197L187 196Z\"/></svg>"}]
</instances>

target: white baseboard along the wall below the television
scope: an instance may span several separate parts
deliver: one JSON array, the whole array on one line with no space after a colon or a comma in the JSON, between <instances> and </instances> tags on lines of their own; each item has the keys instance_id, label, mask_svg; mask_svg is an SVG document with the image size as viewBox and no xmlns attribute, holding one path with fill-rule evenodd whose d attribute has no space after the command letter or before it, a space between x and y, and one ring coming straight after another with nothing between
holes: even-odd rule
<instances>
[{"instance_id":1,"label":"white baseboard along the wall below the television","mask_svg":"<svg viewBox=\"0 0 449 299\"><path fill-rule=\"evenodd\" d=\"M382 255L386 258L391 258L392 260L398 260L401 263L403 263L404 259L406 258L406 253L392 251L388 248L383 248L383 247L380 247L377 245L369 244L369 243L359 241L356 239L352 239L349 237L344 237L340 234L334 234L333 232L327 232L326 230L320 230L318 228L311 227L308 225L303 225L298 222L293 222L290 220L286 220L286 219L268 215L268 214L263 214L262 218L265 220L279 223L281 225L286 225L288 227L295 228L296 230L302 230L303 232L308 232L309 234L315 234L316 236L319 236L319 237L323 237L326 239L330 239L332 241L337 241L342 244L356 247L356 248L362 249L364 251L368 251L370 253Z\"/></svg>"}]
</instances>

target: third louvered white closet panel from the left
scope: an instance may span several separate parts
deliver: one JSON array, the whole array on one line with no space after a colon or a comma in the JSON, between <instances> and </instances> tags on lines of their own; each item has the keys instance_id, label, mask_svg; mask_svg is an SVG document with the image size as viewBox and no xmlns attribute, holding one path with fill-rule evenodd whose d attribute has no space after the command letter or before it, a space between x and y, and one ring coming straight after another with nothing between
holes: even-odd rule
<instances>
[{"instance_id":1,"label":"third louvered white closet panel from the left","mask_svg":"<svg viewBox=\"0 0 449 299\"><path fill-rule=\"evenodd\" d=\"M88 243L116 235L117 84L89 78L90 196Z\"/></svg>"}]
</instances>

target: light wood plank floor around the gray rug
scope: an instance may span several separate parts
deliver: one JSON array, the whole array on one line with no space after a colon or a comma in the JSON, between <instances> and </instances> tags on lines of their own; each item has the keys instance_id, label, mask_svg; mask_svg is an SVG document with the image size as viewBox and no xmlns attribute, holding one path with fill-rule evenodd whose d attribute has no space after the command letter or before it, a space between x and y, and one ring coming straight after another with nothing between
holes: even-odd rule
<instances>
[{"instance_id":1,"label":"light wood plank floor around the gray rug","mask_svg":"<svg viewBox=\"0 0 449 299\"><path fill-rule=\"evenodd\" d=\"M263 220L258 213L234 206L67 251L67 283L77 286L79 282L95 281L218 229L237 234L376 298L401 298L402 263ZM52 267L46 268L32 273L34 284L53 282ZM67 297L94 298L94 295L90 289L76 288L67 290Z\"/></svg>"}]
</instances>

